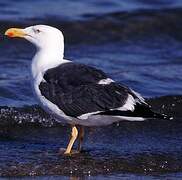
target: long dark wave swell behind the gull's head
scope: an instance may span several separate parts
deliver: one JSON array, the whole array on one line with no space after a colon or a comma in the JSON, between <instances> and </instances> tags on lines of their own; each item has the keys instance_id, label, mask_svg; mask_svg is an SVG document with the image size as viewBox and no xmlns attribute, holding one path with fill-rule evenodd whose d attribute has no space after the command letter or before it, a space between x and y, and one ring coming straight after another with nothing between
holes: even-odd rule
<instances>
[{"instance_id":1,"label":"long dark wave swell behind the gull's head","mask_svg":"<svg viewBox=\"0 0 182 180\"><path fill-rule=\"evenodd\" d=\"M45 16L21 21L1 20L1 30L8 27L48 24L61 29L68 43L98 43L147 37L171 37L181 41L182 8L136 10L107 14L84 14L84 20L69 21L59 16Z\"/></svg>"}]
</instances>

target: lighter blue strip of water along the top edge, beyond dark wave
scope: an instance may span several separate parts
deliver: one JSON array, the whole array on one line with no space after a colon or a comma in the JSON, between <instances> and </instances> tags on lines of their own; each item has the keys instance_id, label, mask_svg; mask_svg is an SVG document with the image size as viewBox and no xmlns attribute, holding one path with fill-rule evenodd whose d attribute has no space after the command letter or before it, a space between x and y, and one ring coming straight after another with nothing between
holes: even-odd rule
<instances>
[{"instance_id":1,"label":"lighter blue strip of water along the top edge, beyond dark wave","mask_svg":"<svg viewBox=\"0 0 182 180\"><path fill-rule=\"evenodd\" d=\"M1 1L0 15L2 20L21 21L29 18L57 16L63 20L82 19L84 15L97 15L112 12L135 11L139 9L179 8L180 0L55 0L55 1Z\"/></svg>"}]
</instances>

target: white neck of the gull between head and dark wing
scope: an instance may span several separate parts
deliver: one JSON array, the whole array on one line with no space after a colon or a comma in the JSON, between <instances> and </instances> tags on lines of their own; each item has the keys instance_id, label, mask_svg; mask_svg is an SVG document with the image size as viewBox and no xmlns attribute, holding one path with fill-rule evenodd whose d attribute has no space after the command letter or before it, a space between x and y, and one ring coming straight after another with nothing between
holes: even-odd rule
<instances>
[{"instance_id":1,"label":"white neck of the gull between head and dark wing","mask_svg":"<svg viewBox=\"0 0 182 180\"><path fill-rule=\"evenodd\" d=\"M47 69L64 63L63 53L59 50L39 49L32 60L31 72L33 79Z\"/></svg>"}]
</instances>

